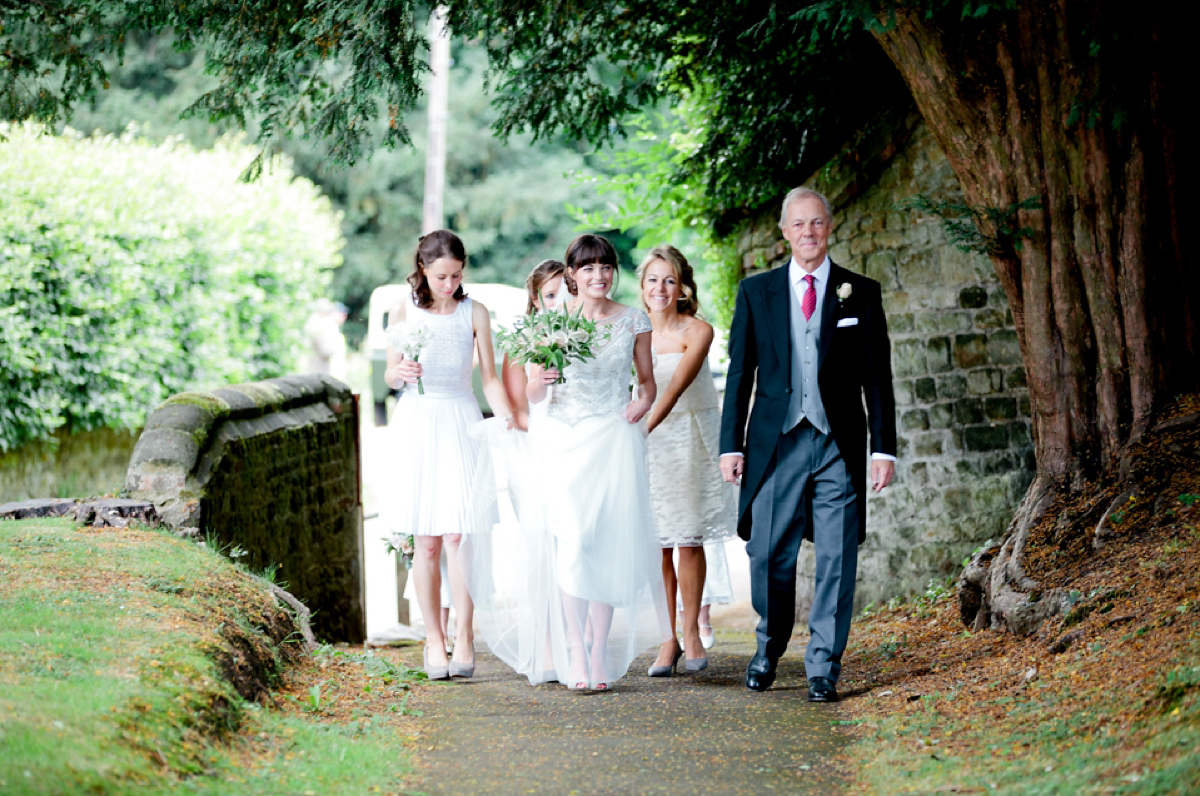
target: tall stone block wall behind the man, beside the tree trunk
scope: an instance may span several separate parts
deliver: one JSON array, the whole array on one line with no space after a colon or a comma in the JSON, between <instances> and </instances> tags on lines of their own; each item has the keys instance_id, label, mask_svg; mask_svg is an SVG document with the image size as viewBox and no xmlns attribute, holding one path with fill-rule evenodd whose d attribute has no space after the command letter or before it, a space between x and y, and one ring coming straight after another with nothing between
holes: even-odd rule
<instances>
[{"instance_id":1,"label":"tall stone block wall behind the man, beside the tree trunk","mask_svg":"<svg viewBox=\"0 0 1200 796\"><path fill-rule=\"evenodd\" d=\"M991 263L949 245L938 219L904 207L917 194L961 198L922 122L907 120L887 140L854 142L809 185L834 205L830 257L882 283L892 336L900 461L894 485L868 501L862 608L944 581L1003 534L1032 479L1030 405ZM739 249L748 270L786 263L779 210L748 225ZM805 545L803 614L811 575Z\"/></svg>"}]
</instances>

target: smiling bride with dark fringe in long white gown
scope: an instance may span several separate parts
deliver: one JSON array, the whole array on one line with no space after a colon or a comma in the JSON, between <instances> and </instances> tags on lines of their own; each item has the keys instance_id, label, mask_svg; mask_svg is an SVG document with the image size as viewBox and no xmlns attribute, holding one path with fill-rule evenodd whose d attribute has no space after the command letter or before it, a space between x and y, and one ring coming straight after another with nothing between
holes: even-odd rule
<instances>
[{"instance_id":1,"label":"smiling bride with dark fringe in long white gown","mask_svg":"<svg viewBox=\"0 0 1200 796\"><path fill-rule=\"evenodd\" d=\"M529 401L548 405L529 436L545 474L541 508L554 537L553 577L565 615L568 671L558 680L571 689L608 690L638 653L670 633L640 424L655 396L650 322L608 298L617 252L607 240L580 235L565 259L574 297L566 309L582 311L605 337L594 359L563 369L562 384L554 384L557 370L530 367Z\"/></svg>"}]
</instances>

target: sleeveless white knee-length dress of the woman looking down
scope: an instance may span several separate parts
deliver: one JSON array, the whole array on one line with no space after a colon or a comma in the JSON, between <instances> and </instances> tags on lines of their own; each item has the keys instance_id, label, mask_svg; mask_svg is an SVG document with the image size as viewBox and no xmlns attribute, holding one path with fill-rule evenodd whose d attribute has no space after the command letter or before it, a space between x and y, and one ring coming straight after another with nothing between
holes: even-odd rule
<instances>
[{"instance_id":1,"label":"sleeveless white knee-length dress of the woman looking down","mask_svg":"<svg viewBox=\"0 0 1200 796\"><path fill-rule=\"evenodd\" d=\"M421 349L421 395L408 384L388 424L392 487L384 503L394 533L443 535L480 529L469 499L480 444L470 435L482 420L472 391L475 347L473 301L464 298L450 315L427 312L415 301L404 323L430 330Z\"/></svg>"}]
</instances>

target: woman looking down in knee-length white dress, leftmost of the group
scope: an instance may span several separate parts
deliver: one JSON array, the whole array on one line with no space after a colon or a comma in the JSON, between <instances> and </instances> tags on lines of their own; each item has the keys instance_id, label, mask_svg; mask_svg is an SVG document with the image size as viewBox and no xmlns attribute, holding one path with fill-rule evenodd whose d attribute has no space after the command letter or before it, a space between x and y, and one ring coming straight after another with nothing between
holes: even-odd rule
<instances>
[{"instance_id":1,"label":"woman looking down in knee-length white dress, leftmost of the group","mask_svg":"<svg viewBox=\"0 0 1200 796\"><path fill-rule=\"evenodd\" d=\"M394 532L413 534L412 576L427 617L425 671L431 680L470 677L475 671L473 608L457 556L461 534L480 527L468 496L479 460L479 443L469 430L482 419L470 385L474 353L488 402L511 424L504 385L496 376L487 307L463 291L466 263L467 252L452 232L439 229L420 239L408 276L413 292L396 303L390 321L425 327L428 342L415 359L389 347L384 373L390 387L407 384L389 424L396 480L388 519ZM457 616L449 659L438 621L443 545Z\"/></svg>"}]
</instances>

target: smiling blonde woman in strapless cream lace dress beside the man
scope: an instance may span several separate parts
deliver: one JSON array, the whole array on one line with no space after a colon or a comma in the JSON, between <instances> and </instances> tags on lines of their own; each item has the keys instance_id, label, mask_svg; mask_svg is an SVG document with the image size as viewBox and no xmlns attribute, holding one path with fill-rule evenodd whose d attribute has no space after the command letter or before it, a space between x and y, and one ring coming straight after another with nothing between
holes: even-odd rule
<instances>
[{"instance_id":1,"label":"smiling blonde woman in strapless cream lace dress beside the man","mask_svg":"<svg viewBox=\"0 0 1200 796\"><path fill-rule=\"evenodd\" d=\"M650 504L662 546L662 580L672 620L671 639L662 644L647 674L666 677L673 674L680 656L688 671L708 666L698 622L707 571L704 546L733 533L737 504L718 467L721 412L708 367L713 327L696 317L700 301L691 265L674 246L658 246L637 274L642 303L654 324L658 401L647 421ZM673 626L677 585L683 603L683 647Z\"/></svg>"}]
</instances>

